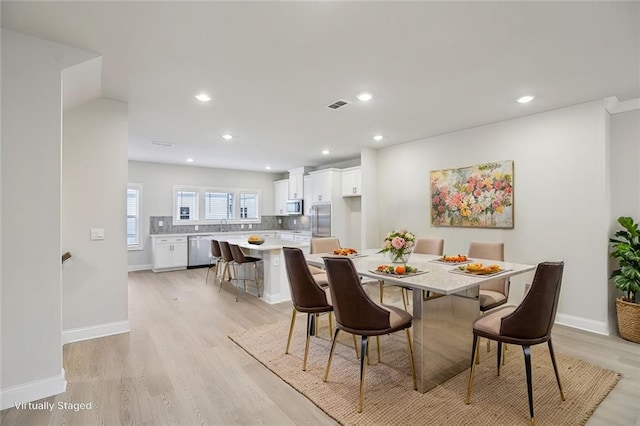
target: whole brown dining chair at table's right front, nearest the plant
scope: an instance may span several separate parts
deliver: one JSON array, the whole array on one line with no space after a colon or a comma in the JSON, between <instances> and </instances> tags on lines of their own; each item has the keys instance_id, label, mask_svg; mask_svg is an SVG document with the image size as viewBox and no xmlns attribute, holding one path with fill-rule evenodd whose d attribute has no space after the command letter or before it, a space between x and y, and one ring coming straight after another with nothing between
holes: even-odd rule
<instances>
[{"instance_id":1,"label":"whole brown dining chair at table's right front, nearest the plant","mask_svg":"<svg viewBox=\"0 0 640 426\"><path fill-rule=\"evenodd\" d=\"M560 390L560 399L562 401L565 400L556 357L551 344L551 328L558 308L563 269L564 262L543 262L538 264L529 292L525 295L520 305L506 306L486 313L473 323L473 349L471 352L469 384L465 398L466 404L469 404L473 390L473 374L475 373L475 360L478 356L479 337L498 342L498 375L500 375L501 346L505 343L522 346L532 426L535 425L535 417L533 415L531 346L547 342L553 371Z\"/></svg>"}]
</instances>

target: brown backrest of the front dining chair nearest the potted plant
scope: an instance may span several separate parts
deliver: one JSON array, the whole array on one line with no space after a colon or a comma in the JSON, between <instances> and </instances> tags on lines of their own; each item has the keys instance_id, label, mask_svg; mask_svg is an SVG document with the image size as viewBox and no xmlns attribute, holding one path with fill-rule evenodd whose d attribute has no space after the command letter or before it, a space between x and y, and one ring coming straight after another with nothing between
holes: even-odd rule
<instances>
[{"instance_id":1,"label":"brown backrest of the front dining chair nearest the potted plant","mask_svg":"<svg viewBox=\"0 0 640 426\"><path fill-rule=\"evenodd\" d=\"M531 287L518 307L502 319L500 334L545 341L558 310L564 262L538 264Z\"/></svg>"}]
</instances>

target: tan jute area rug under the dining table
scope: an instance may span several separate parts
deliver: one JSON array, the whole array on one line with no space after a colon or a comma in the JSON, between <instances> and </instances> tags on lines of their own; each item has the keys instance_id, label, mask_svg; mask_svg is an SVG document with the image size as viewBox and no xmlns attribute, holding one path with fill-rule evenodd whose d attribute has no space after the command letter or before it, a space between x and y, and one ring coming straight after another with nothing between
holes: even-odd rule
<instances>
[{"instance_id":1,"label":"tan jute area rug under the dining table","mask_svg":"<svg viewBox=\"0 0 640 426\"><path fill-rule=\"evenodd\" d=\"M230 338L282 380L345 425L528 425L524 358L518 346L507 350L506 365L496 376L496 344L490 353L482 341L471 404L464 403L469 370L421 394L413 390L406 334L382 336L378 363L370 338L362 413L357 413L359 360L350 334L341 332L329 380L322 381L330 349L326 316L319 337L312 337L307 371L302 371L306 315L299 314L288 355L284 350L289 321L248 330ZM358 346L360 342L358 340ZM556 351L557 352L557 351ZM619 374L556 353L566 401L560 400L546 345L532 348L533 393L538 425L583 425L613 389Z\"/></svg>"}]
</instances>

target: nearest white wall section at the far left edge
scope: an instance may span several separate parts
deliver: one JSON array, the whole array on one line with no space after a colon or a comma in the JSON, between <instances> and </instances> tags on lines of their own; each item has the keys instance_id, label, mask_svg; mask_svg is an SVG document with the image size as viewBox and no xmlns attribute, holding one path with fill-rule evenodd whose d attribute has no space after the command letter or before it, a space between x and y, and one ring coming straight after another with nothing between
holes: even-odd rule
<instances>
[{"instance_id":1,"label":"nearest white wall section at the far left edge","mask_svg":"<svg viewBox=\"0 0 640 426\"><path fill-rule=\"evenodd\" d=\"M61 70L96 55L2 30L0 408L64 391Z\"/></svg>"}]
</instances>

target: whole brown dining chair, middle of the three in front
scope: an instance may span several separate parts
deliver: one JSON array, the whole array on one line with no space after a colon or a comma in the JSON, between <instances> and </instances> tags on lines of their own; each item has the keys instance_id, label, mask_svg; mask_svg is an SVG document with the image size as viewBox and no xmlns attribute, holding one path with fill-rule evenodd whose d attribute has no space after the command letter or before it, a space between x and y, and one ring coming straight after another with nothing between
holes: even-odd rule
<instances>
[{"instance_id":1,"label":"whole brown dining chair, middle of the three in front","mask_svg":"<svg viewBox=\"0 0 640 426\"><path fill-rule=\"evenodd\" d=\"M417 389L413 364L413 348L411 347L411 332L409 331L413 321L411 314L395 306L382 305L371 300L362 288L360 277L351 259L326 257L324 258L324 264L327 277L329 278L329 291L331 293L333 311L336 314L337 327L333 335L331 352L329 353L329 360L327 361L327 368L323 380L326 382L329 377L331 360L340 330L361 336L358 412L362 412L365 368L367 365L365 361L368 360L367 348L369 336L381 336L383 334L405 330L409 348L413 388Z\"/></svg>"}]
</instances>

